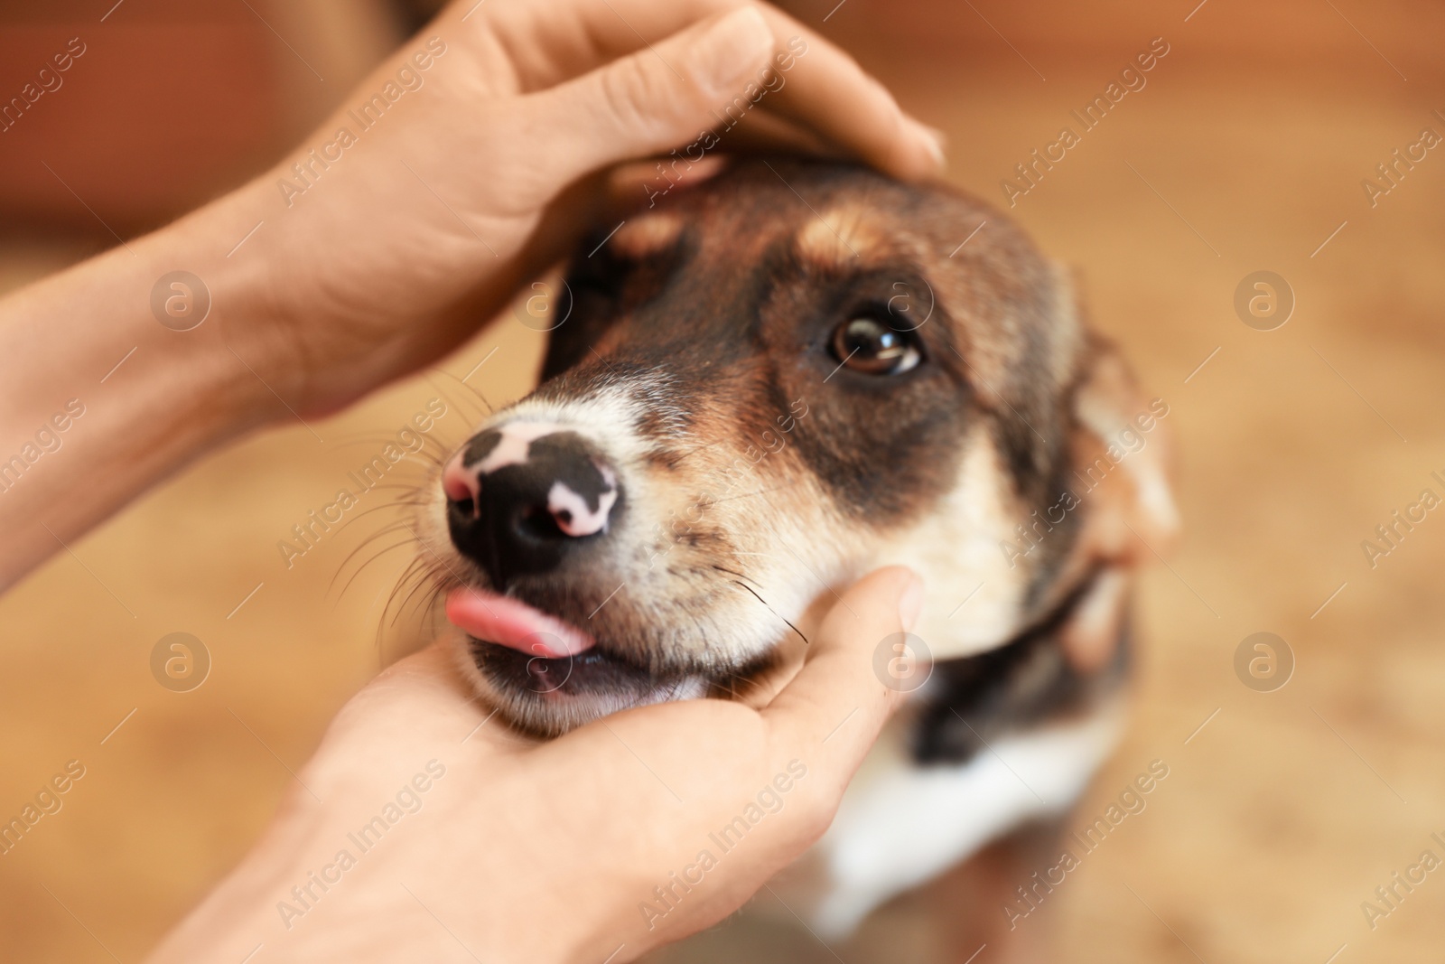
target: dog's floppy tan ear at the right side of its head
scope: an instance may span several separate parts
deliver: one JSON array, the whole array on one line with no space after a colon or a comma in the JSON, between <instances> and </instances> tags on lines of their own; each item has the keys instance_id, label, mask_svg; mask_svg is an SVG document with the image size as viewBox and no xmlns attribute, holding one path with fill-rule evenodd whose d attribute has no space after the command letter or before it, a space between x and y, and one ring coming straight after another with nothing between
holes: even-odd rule
<instances>
[{"instance_id":1,"label":"dog's floppy tan ear at the right side of its head","mask_svg":"<svg viewBox=\"0 0 1445 964\"><path fill-rule=\"evenodd\" d=\"M1169 405L1146 399L1118 350L1097 335L1071 403L1068 477L1082 528L1061 582L1097 575L1062 642L1075 669L1090 672L1114 655L1133 569L1170 551L1179 515L1169 486Z\"/></svg>"}]
</instances>

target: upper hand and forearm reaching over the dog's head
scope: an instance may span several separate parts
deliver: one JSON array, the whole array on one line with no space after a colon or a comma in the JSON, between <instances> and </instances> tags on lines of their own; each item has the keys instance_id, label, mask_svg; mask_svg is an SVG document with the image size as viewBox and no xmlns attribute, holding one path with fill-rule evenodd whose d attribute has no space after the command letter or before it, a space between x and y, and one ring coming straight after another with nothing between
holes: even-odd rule
<instances>
[{"instance_id":1,"label":"upper hand and forearm reaching over the dog's head","mask_svg":"<svg viewBox=\"0 0 1445 964\"><path fill-rule=\"evenodd\" d=\"M939 158L763 4L454 4L273 171L0 301L0 590L207 449L457 347L594 220L608 165L678 149L642 201L757 145Z\"/></svg>"}]
</instances>

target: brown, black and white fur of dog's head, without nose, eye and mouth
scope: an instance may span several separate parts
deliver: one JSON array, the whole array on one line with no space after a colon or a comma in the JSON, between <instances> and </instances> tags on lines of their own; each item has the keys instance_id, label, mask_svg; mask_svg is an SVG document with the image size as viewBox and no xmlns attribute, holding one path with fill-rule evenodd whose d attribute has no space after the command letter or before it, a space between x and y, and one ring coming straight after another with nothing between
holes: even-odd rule
<instances>
[{"instance_id":1,"label":"brown, black and white fur of dog's head, without nose, eye and mouth","mask_svg":"<svg viewBox=\"0 0 1445 964\"><path fill-rule=\"evenodd\" d=\"M954 687L923 694L913 724L933 713L938 728L915 734L916 759L1108 710L1129 574L1175 526L1163 432L1114 454L1159 410L1007 220L860 168L734 163L587 238L566 292L543 384L490 423L575 423L623 500L577 561L491 588L585 624L598 658L656 687L538 695L481 660L513 723L552 734L629 702L736 694L799 652L835 587L887 562L925 577L916 633ZM907 332L919 366L867 374L831 351L860 315ZM445 503L429 513L429 551L486 584L447 519ZM941 710L974 714L972 737Z\"/></svg>"}]
</instances>

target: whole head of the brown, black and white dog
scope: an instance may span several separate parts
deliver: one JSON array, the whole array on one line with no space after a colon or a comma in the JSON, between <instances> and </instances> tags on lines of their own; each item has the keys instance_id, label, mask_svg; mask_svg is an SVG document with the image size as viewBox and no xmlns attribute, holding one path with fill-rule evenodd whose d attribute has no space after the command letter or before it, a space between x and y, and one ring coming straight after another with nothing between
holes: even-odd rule
<instances>
[{"instance_id":1,"label":"whole head of the brown, black and white dog","mask_svg":"<svg viewBox=\"0 0 1445 964\"><path fill-rule=\"evenodd\" d=\"M1160 403L996 211L757 160L605 231L542 386L426 509L468 672L523 728L736 689L890 562L932 656L977 653L1172 526Z\"/></svg>"}]
</instances>

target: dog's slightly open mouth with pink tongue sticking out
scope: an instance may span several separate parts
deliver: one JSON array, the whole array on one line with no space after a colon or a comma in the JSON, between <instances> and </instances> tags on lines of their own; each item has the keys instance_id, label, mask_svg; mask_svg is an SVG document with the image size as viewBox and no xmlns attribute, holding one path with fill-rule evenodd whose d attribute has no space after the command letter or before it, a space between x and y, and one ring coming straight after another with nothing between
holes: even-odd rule
<instances>
[{"instance_id":1,"label":"dog's slightly open mouth with pink tongue sticking out","mask_svg":"<svg viewBox=\"0 0 1445 964\"><path fill-rule=\"evenodd\" d=\"M447 619L467 633L483 678L513 700L605 704L594 708L613 713L708 688L701 673L644 665L556 616L487 590L452 590Z\"/></svg>"}]
</instances>

